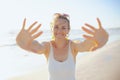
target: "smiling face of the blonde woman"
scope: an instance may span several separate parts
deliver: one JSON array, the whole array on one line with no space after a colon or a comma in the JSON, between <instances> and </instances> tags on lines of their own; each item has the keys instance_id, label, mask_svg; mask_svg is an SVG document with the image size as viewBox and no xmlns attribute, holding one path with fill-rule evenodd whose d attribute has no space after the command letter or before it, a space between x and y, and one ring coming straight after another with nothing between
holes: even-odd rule
<instances>
[{"instance_id":1,"label":"smiling face of the blonde woman","mask_svg":"<svg viewBox=\"0 0 120 80\"><path fill-rule=\"evenodd\" d=\"M53 35L55 39L65 39L69 33L69 23L65 19L57 19L53 23Z\"/></svg>"}]
</instances>

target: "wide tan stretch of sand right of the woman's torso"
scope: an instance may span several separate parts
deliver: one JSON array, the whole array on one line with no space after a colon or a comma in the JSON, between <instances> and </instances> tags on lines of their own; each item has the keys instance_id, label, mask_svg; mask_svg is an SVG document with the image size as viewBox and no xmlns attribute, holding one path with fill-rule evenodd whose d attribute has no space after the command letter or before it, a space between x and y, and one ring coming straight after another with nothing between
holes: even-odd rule
<instances>
[{"instance_id":1,"label":"wide tan stretch of sand right of the woman's torso","mask_svg":"<svg viewBox=\"0 0 120 80\"><path fill-rule=\"evenodd\" d=\"M120 80L120 41L77 60L77 80Z\"/></svg>"}]
</instances>

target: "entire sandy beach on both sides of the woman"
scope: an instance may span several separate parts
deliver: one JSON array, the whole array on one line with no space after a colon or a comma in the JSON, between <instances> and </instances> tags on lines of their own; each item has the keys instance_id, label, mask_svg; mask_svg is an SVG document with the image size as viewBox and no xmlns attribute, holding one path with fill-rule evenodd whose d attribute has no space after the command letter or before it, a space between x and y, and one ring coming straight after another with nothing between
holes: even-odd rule
<instances>
[{"instance_id":1,"label":"entire sandy beach on both sides of the woman","mask_svg":"<svg viewBox=\"0 0 120 80\"><path fill-rule=\"evenodd\" d=\"M77 58L76 80L120 80L119 48L120 40ZM48 80L47 65L7 80Z\"/></svg>"}]
</instances>

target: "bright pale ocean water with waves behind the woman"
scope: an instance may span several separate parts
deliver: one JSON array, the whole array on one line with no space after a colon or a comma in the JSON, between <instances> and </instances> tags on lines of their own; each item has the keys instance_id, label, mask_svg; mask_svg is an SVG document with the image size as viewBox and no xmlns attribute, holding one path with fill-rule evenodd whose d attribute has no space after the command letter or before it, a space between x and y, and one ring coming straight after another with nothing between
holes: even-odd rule
<instances>
[{"instance_id":1,"label":"bright pale ocean water with waves behind the woman","mask_svg":"<svg viewBox=\"0 0 120 80\"><path fill-rule=\"evenodd\" d=\"M109 33L107 44L120 40L120 28L106 30ZM0 35L0 80L6 80L10 77L42 68L47 64L43 55L27 52L16 45L15 38L17 33L18 30L11 30L4 33L4 35ZM84 40L82 37L83 33L81 30L71 30L69 39L82 41ZM49 41L51 40L51 35L50 30L44 30L44 33L37 40Z\"/></svg>"}]
</instances>

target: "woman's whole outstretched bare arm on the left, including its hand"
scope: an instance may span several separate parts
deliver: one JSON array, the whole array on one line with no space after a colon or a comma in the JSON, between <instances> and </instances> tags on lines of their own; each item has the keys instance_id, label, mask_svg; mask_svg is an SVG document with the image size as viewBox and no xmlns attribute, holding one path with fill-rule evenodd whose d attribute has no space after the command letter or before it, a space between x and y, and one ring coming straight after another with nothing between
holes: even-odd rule
<instances>
[{"instance_id":1,"label":"woman's whole outstretched bare arm on the left, including its hand","mask_svg":"<svg viewBox=\"0 0 120 80\"><path fill-rule=\"evenodd\" d=\"M34 22L32 25L29 26L28 29L25 29L26 19L23 21L23 27L19 34L16 37L17 44L24 50L32 51L32 52L40 52L43 53L45 51L45 43L40 44L35 39L42 34L42 31L37 32L40 28L41 24L39 24L36 28L32 29L33 26L37 24ZM36 33L36 34L35 34Z\"/></svg>"}]
</instances>

